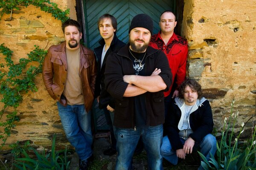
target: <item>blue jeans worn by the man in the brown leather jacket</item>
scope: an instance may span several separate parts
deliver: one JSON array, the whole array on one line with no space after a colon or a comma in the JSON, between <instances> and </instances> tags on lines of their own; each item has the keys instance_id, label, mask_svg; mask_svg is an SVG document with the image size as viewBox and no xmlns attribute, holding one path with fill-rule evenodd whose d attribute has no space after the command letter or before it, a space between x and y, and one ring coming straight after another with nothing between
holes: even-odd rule
<instances>
[{"instance_id":1,"label":"blue jeans worn by the man in the brown leather jacket","mask_svg":"<svg viewBox=\"0 0 256 170\"><path fill-rule=\"evenodd\" d=\"M91 113L86 113L84 105L63 106L57 102L61 124L70 144L75 147L79 159L87 160L93 153Z\"/></svg>"}]
</instances>

